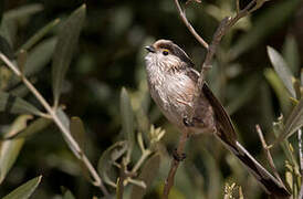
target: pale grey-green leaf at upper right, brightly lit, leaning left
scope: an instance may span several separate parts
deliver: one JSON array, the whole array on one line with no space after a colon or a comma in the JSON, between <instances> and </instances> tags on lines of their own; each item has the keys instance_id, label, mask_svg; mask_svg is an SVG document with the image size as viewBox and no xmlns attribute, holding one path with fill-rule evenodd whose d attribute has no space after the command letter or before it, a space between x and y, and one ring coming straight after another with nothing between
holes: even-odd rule
<instances>
[{"instance_id":1,"label":"pale grey-green leaf at upper right, brightly lit, leaning left","mask_svg":"<svg viewBox=\"0 0 303 199\"><path fill-rule=\"evenodd\" d=\"M288 88L291 96L295 97L295 91L292 84L292 74L284 59L281 56L279 52L276 52L271 46L268 46L268 53L269 53L271 63L275 72L278 73L279 77L282 80L284 86Z\"/></svg>"}]
</instances>

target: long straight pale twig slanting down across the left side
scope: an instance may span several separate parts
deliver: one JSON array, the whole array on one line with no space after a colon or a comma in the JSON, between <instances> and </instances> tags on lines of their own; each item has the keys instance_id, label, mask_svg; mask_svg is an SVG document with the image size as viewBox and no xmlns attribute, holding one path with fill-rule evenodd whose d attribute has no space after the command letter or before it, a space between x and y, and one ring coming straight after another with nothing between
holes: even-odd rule
<instances>
[{"instance_id":1,"label":"long straight pale twig slanting down across the left side","mask_svg":"<svg viewBox=\"0 0 303 199\"><path fill-rule=\"evenodd\" d=\"M83 164L86 166L87 170L92 175L94 182L93 185L96 187L100 187L101 190L103 191L104 196L108 196L108 191L103 185L103 181L101 177L97 175L95 168L92 166L91 161L88 158L85 156L83 150L80 148L79 144L75 142L75 139L72 137L70 130L63 125L62 121L58 117L55 109L53 109L50 104L45 101L45 98L39 93L39 91L32 85L32 83L21 74L20 70L13 65L13 63L2 53L0 53L0 59L7 64L9 69L12 70L12 72L21 77L22 82L24 85L31 91L31 93L36 97L36 100L42 104L42 106L46 109L46 112L50 114L51 118L53 122L56 124L56 126L60 128L62 134L65 136L65 138L69 140L69 143L73 146L75 149L74 153L76 157L80 157L80 160L83 161ZM73 151L73 150L72 150Z\"/></svg>"}]
</instances>

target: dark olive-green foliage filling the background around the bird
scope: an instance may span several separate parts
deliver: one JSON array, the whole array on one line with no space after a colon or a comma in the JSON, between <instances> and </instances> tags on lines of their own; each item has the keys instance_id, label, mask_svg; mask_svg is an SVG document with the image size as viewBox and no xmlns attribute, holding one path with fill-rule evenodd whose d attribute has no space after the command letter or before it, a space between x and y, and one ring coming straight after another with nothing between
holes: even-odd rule
<instances>
[{"instance_id":1,"label":"dark olive-green foliage filling the background around the bird","mask_svg":"<svg viewBox=\"0 0 303 199\"><path fill-rule=\"evenodd\" d=\"M180 23L174 1L3 2L0 198L101 198L98 177L108 197L159 198L179 134L150 101L143 46L171 39L197 70L206 54ZM242 19L223 38L207 76L241 143L265 165L253 130L260 124L294 197L301 187L294 135L303 125L299 3L269 1ZM189 1L186 8L207 41L218 21L237 12L231 0ZM239 165L210 136L195 137L171 197L265 197ZM59 191L61 186L66 188Z\"/></svg>"}]
</instances>

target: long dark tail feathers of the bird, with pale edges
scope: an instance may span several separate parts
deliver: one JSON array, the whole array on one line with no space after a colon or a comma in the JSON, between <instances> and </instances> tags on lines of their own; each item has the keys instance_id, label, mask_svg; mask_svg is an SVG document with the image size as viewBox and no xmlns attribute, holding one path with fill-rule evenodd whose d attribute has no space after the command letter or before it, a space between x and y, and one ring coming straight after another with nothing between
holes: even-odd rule
<instances>
[{"instance_id":1,"label":"long dark tail feathers of the bird, with pale edges","mask_svg":"<svg viewBox=\"0 0 303 199\"><path fill-rule=\"evenodd\" d=\"M218 136L217 136L218 137ZM261 166L238 142L230 144L218 137L223 145L248 168L263 189L274 197L289 198L291 195L280 181L276 180L263 166Z\"/></svg>"}]
</instances>

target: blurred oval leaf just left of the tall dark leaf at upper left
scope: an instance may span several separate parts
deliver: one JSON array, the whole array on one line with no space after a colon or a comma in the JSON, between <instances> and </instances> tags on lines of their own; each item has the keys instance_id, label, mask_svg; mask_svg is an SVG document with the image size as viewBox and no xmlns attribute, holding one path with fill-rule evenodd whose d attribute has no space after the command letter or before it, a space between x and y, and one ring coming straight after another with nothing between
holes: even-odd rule
<instances>
[{"instance_id":1,"label":"blurred oval leaf just left of the tall dark leaf at upper left","mask_svg":"<svg viewBox=\"0 0 303 199\"><path fill-rule=\"evenodd\" d=\"M56 43L55 38L44 40L29 52L27 63L24 66L25 75L33 75L42 70L48 64L54 52Z\"/></svg>"}]
</instances>

